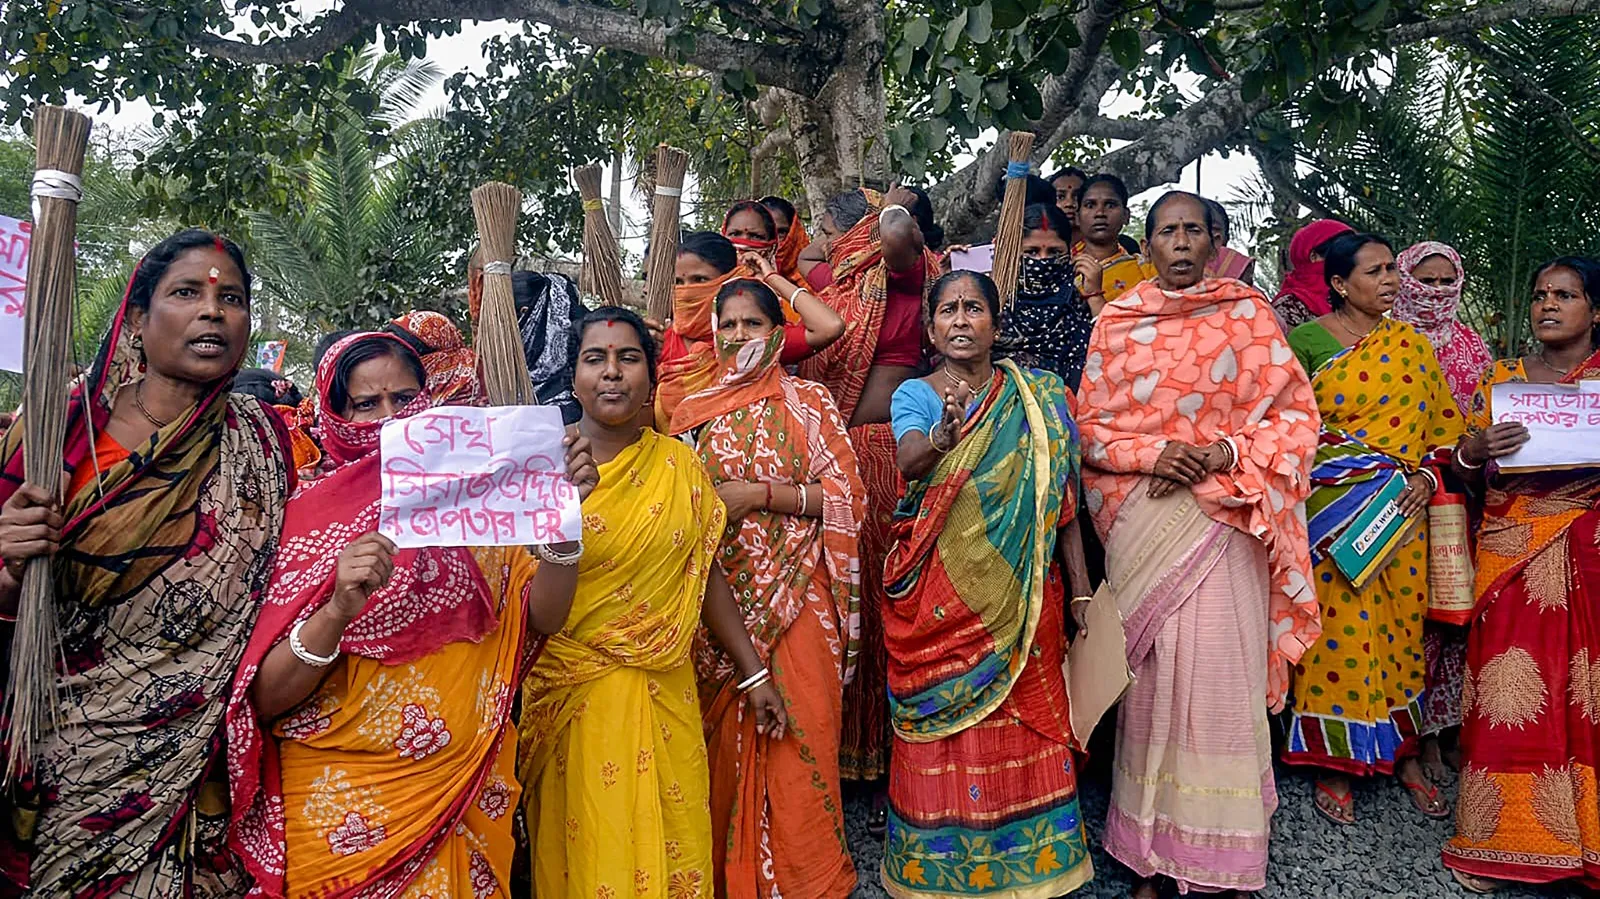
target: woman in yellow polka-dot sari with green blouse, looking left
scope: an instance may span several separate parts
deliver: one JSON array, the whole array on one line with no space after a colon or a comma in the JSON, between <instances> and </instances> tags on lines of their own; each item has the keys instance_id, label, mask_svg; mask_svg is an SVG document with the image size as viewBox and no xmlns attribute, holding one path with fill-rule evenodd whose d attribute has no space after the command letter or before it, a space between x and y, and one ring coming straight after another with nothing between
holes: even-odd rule
<instances>
[{"instance_id":1,"label":"woman in yellow polka-dot sari with green blouse, looking left","mask_svg":"<svg viewBox=\"0 0 1600 899\"><path fill-rule=\"evenodd\" d=\"M1294 670L1283 760L1322 768L1317 811L1355 821L1350 776L1394 774L1429 817L1450 803L1416 755L1426 693L1427 501L1462 416L1416 328L1390 318L1400 278L1389 243L1342 234L1325 245L1333 312L1290 331L1310 373L1322 442L1306 512L1317 600L1328 624ZM1414 520L1382 568L1357 587L1333 544L1394 478L1398 513Z\"/></svg>"}]
</instances>

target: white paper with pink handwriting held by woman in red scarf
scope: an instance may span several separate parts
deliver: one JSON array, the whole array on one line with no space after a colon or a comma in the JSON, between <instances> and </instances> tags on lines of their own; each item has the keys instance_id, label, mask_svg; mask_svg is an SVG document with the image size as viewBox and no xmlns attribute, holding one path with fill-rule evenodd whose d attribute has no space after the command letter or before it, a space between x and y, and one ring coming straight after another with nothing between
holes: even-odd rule
<instances>
[{"instance_id":1,"label":"white paper with pink handwriting held by woman in red scarf","mask_svg":"<svg viewBox=\"0 0 1600 899\"><path fill-rule=\"evenodd\" d=\"M531 545L576 541L554 406L442 406L382 430L378 529L395 545Z\"/></svg>"}]
</instances>

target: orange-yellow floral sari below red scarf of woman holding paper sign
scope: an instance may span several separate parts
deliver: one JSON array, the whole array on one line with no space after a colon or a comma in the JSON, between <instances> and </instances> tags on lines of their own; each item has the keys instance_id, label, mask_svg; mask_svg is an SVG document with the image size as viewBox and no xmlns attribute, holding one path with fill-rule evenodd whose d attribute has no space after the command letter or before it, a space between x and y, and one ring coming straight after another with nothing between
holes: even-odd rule
<instances>
[{"instance_id":1,"label":"orange-yellow floral sari below red scarf of woman holding paper sign","mask_svg":"<svg viewBox=\"0 0 1600 899\"><path fill-rule=\"evenodd\" d=\"M507 723L536 566L523 547L472 555L504 598L498 629L398 665L344 656L272 728L286 811L285 896L406 878L400 896L510 896L518 787ZM438 832L458 816L458 827Z\"/></svg>"}]
</instances>

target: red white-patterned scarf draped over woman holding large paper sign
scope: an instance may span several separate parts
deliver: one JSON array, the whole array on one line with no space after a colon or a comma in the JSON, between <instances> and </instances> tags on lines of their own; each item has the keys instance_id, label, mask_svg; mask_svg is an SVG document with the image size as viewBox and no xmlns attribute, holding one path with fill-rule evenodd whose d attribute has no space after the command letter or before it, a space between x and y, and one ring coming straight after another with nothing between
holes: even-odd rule
<instances>
[{"instance_id":1,"label":"red white-patterned scarf draped over woman holding large paper sign","mask_svg":"<svg viewBox=\"0 0 1600 899\"><path fill-rule=\"evenodd\" d=\"M270 795L280 784L277 752L266 731L269 723L254 713L250 689L267 653L333 597L344 547L378 529L378 448L384 421L354 422L328 405L339 357L371 339L406 346L389 333L350 334L330 347L317 368L323 450L338 467L288 504L272 585L229 702L234 798L229 840L258 881L277 885L275 896L282 894L285 867L283 803ZM410 418L434 405L424 386L394 418ZM402 549L394 557L389 584L371 595L346 629L339 651L403 665L448 643L478 641L498 625L494 597L470 549Z\"/></svg>"}]
</instances>

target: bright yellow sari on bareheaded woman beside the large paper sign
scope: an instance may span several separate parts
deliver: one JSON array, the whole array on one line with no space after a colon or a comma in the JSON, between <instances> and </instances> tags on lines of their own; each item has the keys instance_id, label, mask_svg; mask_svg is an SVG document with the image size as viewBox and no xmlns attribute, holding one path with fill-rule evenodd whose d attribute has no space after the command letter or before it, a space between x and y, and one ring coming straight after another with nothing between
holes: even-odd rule
<instances>
[{"instance_id":1,"label":"bright yellow sari on bareheaded woman beside the large paper sign","mask_svg":"<svg viewBox=\"0 0 1600 899\"><path fill-rule=\"evenodd\" d=\"M539 899L712 893L690 648L725 518L694 451L654 430L600 465L573 611L523 688L518 773Z\"/></svg>"}]
</instances>

